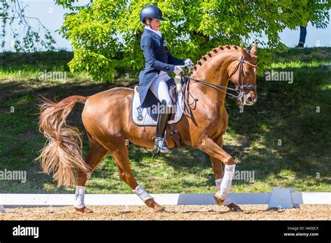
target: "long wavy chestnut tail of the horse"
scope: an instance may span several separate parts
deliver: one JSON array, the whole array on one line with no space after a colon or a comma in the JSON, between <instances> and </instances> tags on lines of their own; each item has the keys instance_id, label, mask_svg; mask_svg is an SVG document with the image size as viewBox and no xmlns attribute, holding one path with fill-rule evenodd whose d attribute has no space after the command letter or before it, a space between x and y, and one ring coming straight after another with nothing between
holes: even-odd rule
<instances>
[{"instance_id":1,"label":"long wavy chestnut tail of the horse","mask_svg":"<svg viewBox=\"0 0 331 243\"><path fill-rule=\"evenodd\" d=\"M82 135L78 128L68 126L66 118L76 102L85 103L87 97L69 96L59 103L41 97L39 129L47 138L41 155L43 172L54 172L57 186L75 185L78 171L89 173L89 166L82 158Z\"/></svg>"}]
</instances>

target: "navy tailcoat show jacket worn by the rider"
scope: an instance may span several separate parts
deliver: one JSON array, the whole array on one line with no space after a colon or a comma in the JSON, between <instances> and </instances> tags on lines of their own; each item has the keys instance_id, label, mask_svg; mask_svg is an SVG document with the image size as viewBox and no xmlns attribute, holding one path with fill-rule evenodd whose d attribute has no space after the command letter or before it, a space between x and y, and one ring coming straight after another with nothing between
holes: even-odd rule
<instances>
[{"instance_id":1,"label":"navy tailcoat show jacket worn by the rider","mask_svg":"<svg viewBox=\"0 0 331 243\"><path fill-rule=\"evenodd\" d=\"M160 71L173 73L176 65L184 65L184 60L172 57L163 37L146 28L141 36L140 47L145 56L145 68L139 74L140 104L142 108L148 108L158 102L149 87Z\"/></svg>"}]
</instances>

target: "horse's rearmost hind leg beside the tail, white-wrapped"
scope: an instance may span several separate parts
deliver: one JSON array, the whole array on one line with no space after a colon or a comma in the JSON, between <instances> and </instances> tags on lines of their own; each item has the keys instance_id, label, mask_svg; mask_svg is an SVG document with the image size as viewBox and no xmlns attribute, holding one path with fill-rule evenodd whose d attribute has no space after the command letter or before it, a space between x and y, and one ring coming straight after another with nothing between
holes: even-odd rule
<instances>
[{"instance_id":1,"label":"horse's rearmost hind leg beside the tail, white-wrapped","mask_svg":"<svg viewBox=\"0 0 331 243\"><path fill-rule=\"evenodd\" d=\"M89 138L89 154L85 159L85 163L89 165L90 175L96 166L102 161L105 154L108 153L108 150L105 149L100 143L98 143L94 138L87 133L87 137ZM90 175L86 175L84 172L78 172L78 184L76 186L75 192L75 203L74 207L77 212L82 213L91 213L92 210L85 207L84 205L84 193L85 193L85 184Z\"/></svg>"}]
</instances>

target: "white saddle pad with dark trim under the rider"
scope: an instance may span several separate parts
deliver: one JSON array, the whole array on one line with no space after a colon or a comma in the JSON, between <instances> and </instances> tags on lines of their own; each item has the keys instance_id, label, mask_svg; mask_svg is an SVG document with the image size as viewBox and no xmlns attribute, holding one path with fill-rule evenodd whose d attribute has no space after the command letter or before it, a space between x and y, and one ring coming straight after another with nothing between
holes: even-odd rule
<instances>
[{"instance_id":1,"label":"white saddle pad with dark trim under the rider","mask_svg":"<svg viewBox=\"0 0 331 243\"><path fill-rule=\"evenodd\" d=\"M179 99L181 101L179 105ZM175 119L168 121L168 124L176 123L183 115L183 106L182 106L182 96L179 96L177 99L177 109L175 113ZM150 116L151 108L142 108L140 105L139 97L139 86L135 86L135 93L133 95L132 107L131 107L131 117L133 122L138 126L156 126L156 121Z\"/></svg>"}]
</instances>

